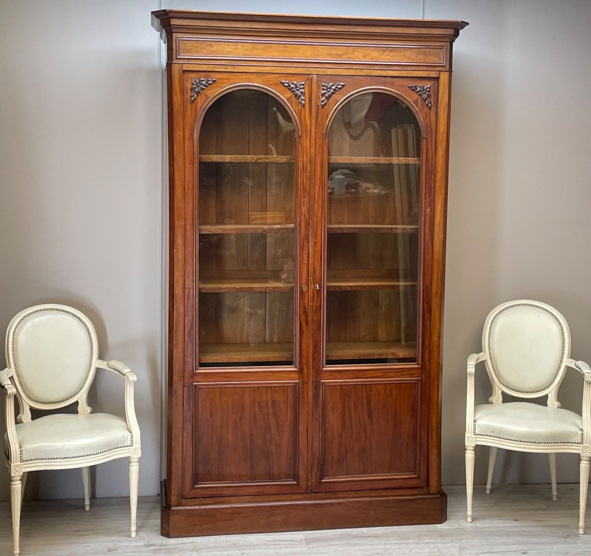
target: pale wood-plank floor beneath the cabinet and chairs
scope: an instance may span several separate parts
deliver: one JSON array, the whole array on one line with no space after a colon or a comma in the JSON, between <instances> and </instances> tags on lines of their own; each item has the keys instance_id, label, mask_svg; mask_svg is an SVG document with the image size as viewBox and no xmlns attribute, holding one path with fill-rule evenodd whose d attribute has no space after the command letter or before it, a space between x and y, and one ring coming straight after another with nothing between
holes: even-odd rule
<instances>
[{"instance_id":1,"label":"pale wood-plank floor beneath the cabinet and chairs","mask_svg":"<svg viewBox=\"0 0 591 556\"><path fill-rule=\"evenodd\" d=\"M550 485L475 487L474 522L466 523L463 487L447 487L442 525L307 531L167 539L160 536L158 497L138 506L138 536L128 536L128 499L25 502L22 556L441 556L486 554L591 554L591 509L586 535L577 534L579 487ZM10 512L0 504L0 555L12 554Z\"/></svg>"}]
</instances>

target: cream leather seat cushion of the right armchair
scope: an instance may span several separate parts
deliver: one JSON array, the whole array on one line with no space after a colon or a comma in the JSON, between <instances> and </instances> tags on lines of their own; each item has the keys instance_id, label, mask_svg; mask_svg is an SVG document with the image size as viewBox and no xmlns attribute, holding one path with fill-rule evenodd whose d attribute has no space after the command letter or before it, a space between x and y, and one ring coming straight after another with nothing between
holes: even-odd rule
<instances>
[{"instance_id":1,"label":"cream leather seat cushion of the right armchair","mask_svg":"<svg viewBox=\"0 0 591 556\"><path fill-rule=\"evenodd\" d=\"M583 420L537 403L487 403L474 408L474 434L528 444L582 444Z\"/></svg>"}]
</instances>

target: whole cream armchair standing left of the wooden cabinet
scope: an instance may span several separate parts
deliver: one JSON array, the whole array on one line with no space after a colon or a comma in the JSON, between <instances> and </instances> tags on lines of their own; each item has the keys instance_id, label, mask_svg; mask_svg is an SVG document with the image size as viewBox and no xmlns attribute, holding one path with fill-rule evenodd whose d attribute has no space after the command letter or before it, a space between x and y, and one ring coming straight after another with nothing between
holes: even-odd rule
<instances>
[{"instance_id":1,"label":"whole cream armchair standing left of the wooden cabinet","mask_svg":"<svg viewBox=\"0 0 591 556\"><path fill-rule=\"evenodd\" d=\"M85 509L90 509L89 467L129 457L131 536L138 500L139 426L134 409L135 374L119 361L98 359L96 332L81 312L65 305L37 305L18 313L6 335L4 454L10 471L13 553L18 554L22 492L29 471L82 468ZM91 413L87 403L96 368L125 379L125 419ZM18 401L15 423L14 399ZM78 412L31 419L31 408Z\"/></svg>"}]
</instances>

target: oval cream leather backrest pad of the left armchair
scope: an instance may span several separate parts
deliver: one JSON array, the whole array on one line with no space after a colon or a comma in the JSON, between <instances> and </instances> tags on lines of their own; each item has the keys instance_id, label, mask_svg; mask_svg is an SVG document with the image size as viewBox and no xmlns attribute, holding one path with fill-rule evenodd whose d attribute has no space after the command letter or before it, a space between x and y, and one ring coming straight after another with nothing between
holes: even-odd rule
<instances>
[{"instance_id":1,"label":"oval cream leather backrest pad of the left armchair","mask_svg":"<svg viewBox=\"0 0 591 556\"><path fill-rule=\"evenodd\" d=\"M92 324L61 306L32 308L18 317L7 347L21 394L37 407L75 399L95 372Z\"/></svg>"}]
</instances>

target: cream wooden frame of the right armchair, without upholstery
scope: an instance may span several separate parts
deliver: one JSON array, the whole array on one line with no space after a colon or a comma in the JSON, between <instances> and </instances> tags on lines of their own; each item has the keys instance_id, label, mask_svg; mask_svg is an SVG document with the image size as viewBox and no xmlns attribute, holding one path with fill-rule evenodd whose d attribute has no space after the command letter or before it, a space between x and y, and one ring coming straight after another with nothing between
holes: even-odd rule
<instances>
[{"instance_id":1,"label":"cream wooden frame of the right armchair, without upholstery","mask_svg":"<svg viewBox=\"0 0 591 556\"><path fill-rule=\"evenodd\" d=\"M536 392L519 392L508 387L502 383L494 371L492 363L492 355L489 347L487 337L491 331L492 324L499 315L499 313L506 311L518 305L531 305L549 312L560 323L563 331L563 357L560 362L554 378L544 389ZM506 450L514 450L520 452L543 452L548 454L550 461L550 476L552 483L552 499L557 500L556 488L556 454L560 452L571 452L580 454L579 467L579 534L584 534L585 526L585 510L587 502L587 486L589 482L589 460L591 459L591 367L584 361L575 361L570 358L570 331L569 326L564 317L550 305L533 301L529 299L519 299L502 303L489 313L486 318L485 325L482 331L482 345L485 351L478 354L470 354L467 358L467 399L466 399L466 502L467 502L467 521L472 522L472 492L473 492L473 478L474 478L474 459L476 445L485 445L491 448L489 455L488 476L486 480L486 493L491 492L492 474L495 467L496 451L498 448L505 448ZM492 385L492 396L489 402L493 404L502 403L502 393L506 392L512 396L521 398L535 398L544 395L548 396L547 405L551 408L560 408L560 402L557 400L558 389L562 380L566 367L574 368L582 374L583 382L583 404L582 404L582 442L580 444L558 443L541 444L536 442L515 441L506 438L485 437L475 434L474 423L474 382L475 382L475 368L476 364L485 361L486 371Z\"/></svg>"}]
</instances>

